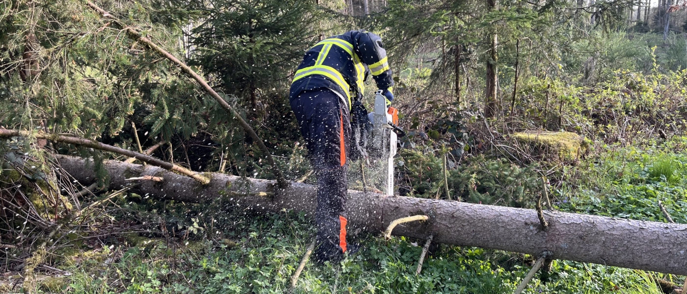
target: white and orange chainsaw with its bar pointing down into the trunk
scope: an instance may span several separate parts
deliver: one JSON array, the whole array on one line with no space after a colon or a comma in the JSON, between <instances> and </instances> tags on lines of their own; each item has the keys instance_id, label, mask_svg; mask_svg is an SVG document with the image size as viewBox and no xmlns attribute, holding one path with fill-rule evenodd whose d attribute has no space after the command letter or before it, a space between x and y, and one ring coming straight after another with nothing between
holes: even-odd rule
<instances>
[{"instance_id":1,"label":"white and orange chainsaw with its bar pointing down into the trunk","mask_svg":"<svg viewBox=\"0 0 687 294\"><path fill-rule=\"evenodd\" d=\"M394 195L394 156L396 156L396 141L398 137L393 132L391 125L392 115L389 114L389 107L386 103L386 97L382 95L382 90L377 90L374 96L374 112L373 129L372 129L372 147L381 150L382 160L387 161L387 175L386 175L386 195Z\"/></svg>"}]
</instances>

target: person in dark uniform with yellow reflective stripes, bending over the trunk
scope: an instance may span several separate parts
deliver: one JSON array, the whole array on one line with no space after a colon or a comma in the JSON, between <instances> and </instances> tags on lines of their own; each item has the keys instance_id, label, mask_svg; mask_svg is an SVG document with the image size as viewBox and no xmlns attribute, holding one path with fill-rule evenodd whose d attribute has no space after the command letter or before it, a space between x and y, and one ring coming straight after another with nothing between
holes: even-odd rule
<instances>
[{"instance_id":1,"label":"person in dark uniform with yellow reflective stripes, bending over the trunk","mask_svg":"<svg viewBox=\"0 0 687 294\"><path fill-rule=\"evenodd\" d=\"M346 180L350 110L372 73L387 103L394 99L392 72L381 38L350 31L318 42L293 77L289 101L317 176L317 249L320 262L338 261L346 243Z\"/></svg>"}]
</instances>

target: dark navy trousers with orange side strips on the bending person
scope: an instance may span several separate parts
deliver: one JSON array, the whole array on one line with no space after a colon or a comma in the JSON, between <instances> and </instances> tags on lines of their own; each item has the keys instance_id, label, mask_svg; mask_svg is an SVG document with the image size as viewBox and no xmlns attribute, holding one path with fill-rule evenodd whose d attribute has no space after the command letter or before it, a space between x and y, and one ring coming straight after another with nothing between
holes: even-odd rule
<instances>
[{"instance_id":1,"label":"dark navy trousers with orange side strips on the bending person","mask_svg":"<svg viewBox=\"0 0 687 294\"><path fill-rule=\"evenodd\" d=\"M289 97L289 101L317 176L315 258L320 261L341 260L347 249L348 107L328 88L305 90Z\"/></svg>"}]
</instances>

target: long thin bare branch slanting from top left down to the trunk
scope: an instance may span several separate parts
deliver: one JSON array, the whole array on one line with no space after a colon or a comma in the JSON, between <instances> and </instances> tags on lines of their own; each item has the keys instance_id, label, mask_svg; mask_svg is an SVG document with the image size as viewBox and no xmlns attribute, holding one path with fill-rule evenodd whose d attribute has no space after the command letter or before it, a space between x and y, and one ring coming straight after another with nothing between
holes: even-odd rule
<instances>
[{"instance_id":1,"label":"long thin bare branch slanting from top left down to the trunk","mask_svg":"<svg viewBox=\"0 0 687 294\"><path fill-rule=\"evenodd\" d=\"M137 40L138 42L144 43L145 45L150 47L150 49L153 49L153 51L159 53L161 56L164 56L164 58L167 58L168 60L170 60L174 64L177 64L177 66L181 67L181 71L183 71L184 73L186 73L187 75L192 77L192 79L195 79L196 82L201 84L203 90L205 90L205 92L210 94L210 96L212 96L222 106L222 108L224 108L229 113L231 113L234 117L236 117L239 125L241 125L241 127L243 127L243 130L245 130L245 132L247 132L249 134L249 136L251 136L251 138L253 138L253 140L258 144L258 147L260 147L260 150L262 150L262 152L267 157L267 162L269 162L273 171L275 171L277 173L277 182L278 182L279 186L281 188L286 188L287 186L289 186L289 182L286 181L286 178L284 178L284 173L282 173L282 171L279 169L279 167L277 167L277 164L275 163L274 158L272 157L272 154L269 152L269 149L267 148L267 146L264 145L264 141L262 139L260 139L258 134L256 134L256 132L253 130L253 127L251 127L251 125L249 125L238 114L238 112L236 112L236 110L232 106L230 106L229 103L227 103L227 101L225 101L219 94L217 94L217 92L215 92L215 90L213 90L212 87L209 84L207 84L207 82L205 81L205 79L203 77L201 77L201 75L196 73L194 70L192 70L185 63L181 62L181 60L172 56L172 54L170 54L165 49L162 49L157 44L155 44L153 41L144 37L142 34L137 32L136 29L134 29L133 27L126 26L124 23L122 23L122 21L119 21L118 19L116 19L112 14L109 14L108 12L103 10L102 8L98 7L98 5L95 5L91 1L86 1L86 3L91 9L102 14L102 16L104 18L110 19L111 21L117 23L117 25L120 25L120 27L125 29L126 32L128 33L129 38L132 38L134 40Z\"/></svg>"}]
</instances>

